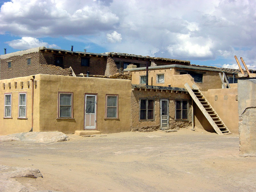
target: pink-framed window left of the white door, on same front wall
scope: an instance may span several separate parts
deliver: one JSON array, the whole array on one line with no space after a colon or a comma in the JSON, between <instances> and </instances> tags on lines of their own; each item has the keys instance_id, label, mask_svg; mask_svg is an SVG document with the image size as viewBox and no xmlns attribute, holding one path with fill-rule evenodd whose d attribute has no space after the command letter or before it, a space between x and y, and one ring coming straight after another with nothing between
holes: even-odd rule
<instances>
[{"instance_id":1,"label":"pink-framed window left of the white door, on same front wall","mask_svg":"<svg viewBox=\"0 0 256 192\"><path fill-rule=\"evenodd\" d=\"M58 118L73 118L73 93L59 92Z\"/></svg>"}]
</instances>

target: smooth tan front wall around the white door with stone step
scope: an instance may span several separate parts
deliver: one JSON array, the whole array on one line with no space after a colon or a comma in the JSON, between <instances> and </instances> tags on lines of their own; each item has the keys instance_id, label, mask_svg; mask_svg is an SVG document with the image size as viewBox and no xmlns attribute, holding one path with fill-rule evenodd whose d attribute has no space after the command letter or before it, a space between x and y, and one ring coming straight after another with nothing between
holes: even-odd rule
<instances>
[{"instance_id":1,"label":"smooth tan front wall around the white door with stone step","mask_svg":"<svg viewBox=\"0 0 256 192\"><path fill-rule=\"evenodd\" d=\"M131 81L96 77L37 75L40 85L40 131L74 133L84 130L84 93L97 93L97 130L131 130ZM56 119L58 91L74 93L74 119ZM107 94L119 95L119 119L105 119Z\"/></svg>"}]
</instances>

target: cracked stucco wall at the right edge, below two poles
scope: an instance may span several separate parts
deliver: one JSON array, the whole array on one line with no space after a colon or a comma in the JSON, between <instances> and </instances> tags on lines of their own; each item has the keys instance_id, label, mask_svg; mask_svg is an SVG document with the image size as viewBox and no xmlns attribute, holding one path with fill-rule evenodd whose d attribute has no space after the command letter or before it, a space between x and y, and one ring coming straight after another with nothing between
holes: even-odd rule
<instances>
[{"instance_id":1,"label":"cracked stucco wall at the right edge, below two poles","mask_svg":"<svg viewBox=\"0 0 256 192\"><path fill-rule=\"evenodd\" d=\"M256 153L256 79L238 79L240 154Z\"/></svg>"}]
</instances>

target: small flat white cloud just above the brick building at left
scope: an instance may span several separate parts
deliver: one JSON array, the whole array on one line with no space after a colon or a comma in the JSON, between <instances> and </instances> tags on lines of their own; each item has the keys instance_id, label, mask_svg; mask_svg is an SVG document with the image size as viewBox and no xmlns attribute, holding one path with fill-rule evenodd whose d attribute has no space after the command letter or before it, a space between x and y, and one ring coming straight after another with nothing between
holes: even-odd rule
<instances>
[{"instance_id":1,"label":"small flat white cloud just above the brick building at left","mask_svg":"<svg viewBox=\"0 0 256 192\"><path fill-rule=\"evenodd\" d=\"M49 48L60 48L56 44L48 44L34 37L22 37L21 39L12 40L5 43L7 43L13 49L20 49L20 50L30 49L33 47L40 47L40 46L45 46Z\"/></svg>"}]
</instances>

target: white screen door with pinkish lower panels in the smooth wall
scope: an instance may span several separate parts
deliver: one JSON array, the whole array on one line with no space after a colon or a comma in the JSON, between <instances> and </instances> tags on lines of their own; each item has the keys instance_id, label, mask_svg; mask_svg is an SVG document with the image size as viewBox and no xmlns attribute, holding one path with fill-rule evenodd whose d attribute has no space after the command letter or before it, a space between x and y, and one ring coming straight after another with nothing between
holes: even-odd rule
<instances>
[{"instance_id":1,"label":"white screen door with pinkish lower panels in the smooth wall","mask_svg":"<svg viewBox=\"0 0 256 192\"><path fill-rule=\"evenodd\" d=\"M96 95L85 95L84 129L96 129Z\"/></svg>"}]
</instances>

